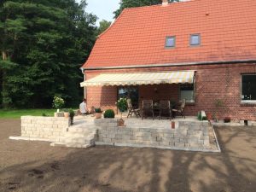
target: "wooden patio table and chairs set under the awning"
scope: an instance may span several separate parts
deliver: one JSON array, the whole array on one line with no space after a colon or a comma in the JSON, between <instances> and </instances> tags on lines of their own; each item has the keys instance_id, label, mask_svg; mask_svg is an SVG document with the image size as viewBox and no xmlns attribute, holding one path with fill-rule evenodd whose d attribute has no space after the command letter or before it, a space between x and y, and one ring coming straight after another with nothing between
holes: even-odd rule
<instances>
[{"instance_id":1,"label":"wooden patio table and chairs set under the awning","mask_svg":"<svg viewBox=\"0 0 256 192\"><path fill-rule=\"evenodd\" d=\"M158 119L172 119L175 118L176 115L180 115L185 118L183 111L186 105L186 101L183 100L179 108L172 108L170 101L162 100L160 102L153 102L153 100L143 100L143 110L141 112L140 108L134 108L131 104L131 99L127 99L127 109L128 115L131 117L134 113L136 117L142 117L142 119L147 118L148 116L154 119L157 117Z\"/></svg>"}]
</instances>

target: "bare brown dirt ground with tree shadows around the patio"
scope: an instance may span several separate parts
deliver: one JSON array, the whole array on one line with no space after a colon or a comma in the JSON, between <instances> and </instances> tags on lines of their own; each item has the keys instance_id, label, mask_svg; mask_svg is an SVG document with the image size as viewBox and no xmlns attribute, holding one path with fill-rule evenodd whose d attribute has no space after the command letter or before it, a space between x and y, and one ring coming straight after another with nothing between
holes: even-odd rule
<instances>
[{"instance_id":1,"label":"bare brown dirt ground with tree shadows around the patio","mask_svg":"<svg viewBox=\"0 0 256 192\"><path fill-rule=\"evenodd\" d=\"M61 148L9 140L0 120L0 191L256 191L256 127L216 129L222 153L153 148Z\"/></svg>"}]
</instances>

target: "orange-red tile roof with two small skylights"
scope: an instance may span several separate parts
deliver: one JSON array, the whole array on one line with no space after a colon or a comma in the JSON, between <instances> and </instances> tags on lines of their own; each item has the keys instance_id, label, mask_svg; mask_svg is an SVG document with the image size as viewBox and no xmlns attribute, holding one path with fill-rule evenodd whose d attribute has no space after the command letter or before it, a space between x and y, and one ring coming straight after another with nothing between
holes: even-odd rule
<instances>
[{"instance_id":1,"label":"orange-red tile roof with two small skylights","mask_svg":"<svg viewBox=\"0 0 256 192\"><path fill-rule=\"evenodd\" d=\"M189 46L189 35L201 45ZM165 49L166 36L176 47ZM125 9L84 68L256 59L256 0L194 0Z\"/></svg>"}]
</instances>

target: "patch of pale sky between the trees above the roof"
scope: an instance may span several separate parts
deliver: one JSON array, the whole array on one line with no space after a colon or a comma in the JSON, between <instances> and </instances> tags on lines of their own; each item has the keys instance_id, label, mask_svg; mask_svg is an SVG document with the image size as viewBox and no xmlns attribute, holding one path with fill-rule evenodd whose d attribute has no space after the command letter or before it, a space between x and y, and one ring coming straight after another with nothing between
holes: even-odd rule
<instances>
[{"instance_id":1,"label":"patch of pale sky between the trees above the roof","mask_svg":"<svg viewBox=\"0 0 256 192\"><path fill-rule=\"evenodd\" d=\"M76 0L80 2L80 0ZM113 11L119 9L120 0L87 0L87 13L96 15L99 19L96 25L99 26L100 20L113 21Z\"/></svg>"}]
</instances>

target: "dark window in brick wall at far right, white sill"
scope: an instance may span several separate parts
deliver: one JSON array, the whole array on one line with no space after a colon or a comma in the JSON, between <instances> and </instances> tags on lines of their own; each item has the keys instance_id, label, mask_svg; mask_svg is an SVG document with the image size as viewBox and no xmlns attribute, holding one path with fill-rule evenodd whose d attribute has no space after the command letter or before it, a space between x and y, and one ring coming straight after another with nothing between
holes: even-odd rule
<instances>
[{"instance_id":1,"label":"dark window in brick wall at far right, white sill","mask_svg":"<svg viewBox=\"0 0 256 192\"><path fill-rule=\"evenodd\" d=\"M241 75L241 101L256 102L256 74Z\"/></svg>"}]
</instances>

